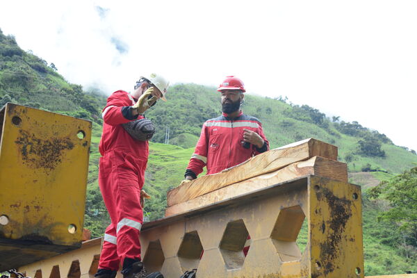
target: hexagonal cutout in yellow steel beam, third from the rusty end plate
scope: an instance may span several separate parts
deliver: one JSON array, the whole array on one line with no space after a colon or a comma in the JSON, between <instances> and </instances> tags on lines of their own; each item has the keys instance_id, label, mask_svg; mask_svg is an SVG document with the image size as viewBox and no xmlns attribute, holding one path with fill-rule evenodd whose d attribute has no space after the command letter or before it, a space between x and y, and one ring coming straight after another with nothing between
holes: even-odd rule
<instances>
[{"instance_id":1,"label":"hexagonal cutout in yellow steel beam, third from the rusty end plate","mask_svg":"<svg viewBox=\"0 0 417 278\"><path fill-rule=\"evenodd\" d=\"M203 245L197 231L185 234L177 254L183 272L197 268L202 252Z\"/></svg>"}]
</instances>

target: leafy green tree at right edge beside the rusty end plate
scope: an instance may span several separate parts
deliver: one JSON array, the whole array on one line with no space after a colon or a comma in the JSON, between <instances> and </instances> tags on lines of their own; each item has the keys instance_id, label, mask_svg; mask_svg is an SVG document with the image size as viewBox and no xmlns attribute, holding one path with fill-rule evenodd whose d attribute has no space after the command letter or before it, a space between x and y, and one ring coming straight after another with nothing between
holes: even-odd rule
<instances>
[{"instance_id":1,"label":"leafy green tree at right edge beside the rusty end plate","mask_svg":"<svg viewBox=\"0 0 417 278\"><path fill-rule=\"evenodd\" d=\"M407 257L417 256L417 167L389 181L382 181L368 191L373 199L385 199L390 207L379 213L378 220L395 223L404 238L402 247ZM411 248L410 252L410 246Z\"/></svg>"}]
</instances>

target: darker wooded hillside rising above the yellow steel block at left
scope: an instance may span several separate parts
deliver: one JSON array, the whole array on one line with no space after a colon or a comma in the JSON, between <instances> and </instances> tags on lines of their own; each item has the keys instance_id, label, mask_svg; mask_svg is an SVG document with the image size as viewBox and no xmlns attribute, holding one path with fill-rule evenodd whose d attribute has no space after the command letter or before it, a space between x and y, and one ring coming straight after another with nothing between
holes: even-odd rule
<instances>
[{"instance_id":1,"label":"darker wooded hillside rising above the yellow steel block at left","mask_svg":"<svg viewBox=\"0 0 417 278\"><path fill-rule=\"evenodd\" d=\"M106 97L95 91L83 91L58 74L54 63L19 48L13 36L0 30L0 105L24 104L81 117L102 124L101 107Z\"/></svg>"}]
</instances>

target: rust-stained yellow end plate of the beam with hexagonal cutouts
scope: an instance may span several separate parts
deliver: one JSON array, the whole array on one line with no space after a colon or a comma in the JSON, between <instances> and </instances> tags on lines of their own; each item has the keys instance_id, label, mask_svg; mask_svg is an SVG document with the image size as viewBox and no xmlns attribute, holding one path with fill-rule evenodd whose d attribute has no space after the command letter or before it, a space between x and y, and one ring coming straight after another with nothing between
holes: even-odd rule
<instances>
[{"instance_id":1,"label":"rust-stained yellow end plate of the beam with hexagonal cutouts","mask_svg":"<svg viewBox=\"0 0 417 278\"><path fill-rule=\"evenodd\" d=\"M310 268L315 277L363 277L361 188L311 176Z\"/></svg>"}]
</instances>

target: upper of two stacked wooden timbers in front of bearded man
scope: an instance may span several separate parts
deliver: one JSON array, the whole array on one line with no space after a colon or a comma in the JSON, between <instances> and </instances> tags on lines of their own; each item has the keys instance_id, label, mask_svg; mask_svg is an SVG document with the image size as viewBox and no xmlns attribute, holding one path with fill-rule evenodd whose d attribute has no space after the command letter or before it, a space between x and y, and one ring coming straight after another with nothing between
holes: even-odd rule
<instances>
[{"instance_id":1,"label":"upper of two stacked wooden timbers in front of bearded man","mask_svg":"<svg viewBox=\"0 0 417 278\"><path fill-rule=\"evenodd\" d=\"M245 181L261 174L279 170L291 163L304 161L313 156L337 160L337 147L309 138L284 147L272 149L249 160L223 170L218 174L199 177L189 183L173 188L167 193L167 206L174 206L195 197L224 188L233 183Z\"/></svg>"}]
</instances>

